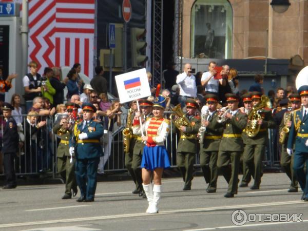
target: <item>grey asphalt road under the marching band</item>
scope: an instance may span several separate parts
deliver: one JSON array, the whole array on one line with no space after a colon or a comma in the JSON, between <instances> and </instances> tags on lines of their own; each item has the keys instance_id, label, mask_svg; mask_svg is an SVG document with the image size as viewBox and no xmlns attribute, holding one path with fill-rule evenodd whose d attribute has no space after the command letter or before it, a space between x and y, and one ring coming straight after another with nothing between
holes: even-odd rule
<instances>
[{"instance_id":1,"label":"grey asphalt road under the marching band","mask_svg":"<svg viewBox=\"0 0 308 231\"><path fill-rule=\"evenodd\" d=\"M194 178L190 191L182 191L180 178L163 179L155 215L145 213L145 199L131 194L131 181L98 183L91 203L61 200L63 184L19 186L0 190L0 230L307 230L308 202L300 201L301 191L288 193L289 184L285 174L264 174L260 190L239 188L235 198L224 198L221 176L215 194L205 191L202 177ZM234 211L235 222L244 221L244 213L249 221L235 225Z\"/></svg>"}]
</instances>

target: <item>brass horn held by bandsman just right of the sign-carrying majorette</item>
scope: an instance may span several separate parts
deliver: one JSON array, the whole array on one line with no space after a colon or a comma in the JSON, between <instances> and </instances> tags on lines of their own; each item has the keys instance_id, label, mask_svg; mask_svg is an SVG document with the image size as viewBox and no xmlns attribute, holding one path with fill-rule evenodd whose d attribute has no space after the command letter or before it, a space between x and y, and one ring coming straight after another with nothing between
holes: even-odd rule
<instances>
[{"instance_id":1,"label":"brass horn held by bandsman just right of the sign-carrying majorette","mask_svg":"<svg viewBox=\"0 0 308 231\"><path fill-rule=\"evenodd\" d=\"M184 112L181 109L181 104L178 104L175 107L171 107L171 114L170 114L170 120L176 125L178 129L180 129L181 126L185 127L191 127L190 121L185 116ZM184 132L183 132L184 133ZM184 136L186 139L194 139L196 137L195 134L185 134Z\"/></svg>"}]
</instances>

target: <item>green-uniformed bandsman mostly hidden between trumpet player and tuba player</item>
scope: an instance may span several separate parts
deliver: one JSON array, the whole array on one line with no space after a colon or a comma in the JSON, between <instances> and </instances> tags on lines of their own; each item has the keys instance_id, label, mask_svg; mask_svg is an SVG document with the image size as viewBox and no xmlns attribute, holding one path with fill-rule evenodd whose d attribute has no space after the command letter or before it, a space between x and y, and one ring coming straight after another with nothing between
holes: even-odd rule
<instances>
[{"instance_id":1,"label":"green-uniformed bandsman mostly hidden between trumpet player and tuba player","mask_svg":"<svg viewBox=\"0 0 308 231\"><path fill-rule=\"evenodd\" d=\"M245 102L251 103L252 102L251 94L250 93L243 94L242 101L243 103ZM248 114L248 112L249 112L248 109L245 108L245 113ZM242 140L243 140L244 145L246 145L246 139L247 139L247 134L244 129L242 132ZM240 163L242 164L242 171L243 171L243 176L242 176L240 187L247 187L248 183L252 179L252 173L249 170L248 166L246 165L245 161L243 161L243 152L241 153Z\"/></svg>"}]
</instances>

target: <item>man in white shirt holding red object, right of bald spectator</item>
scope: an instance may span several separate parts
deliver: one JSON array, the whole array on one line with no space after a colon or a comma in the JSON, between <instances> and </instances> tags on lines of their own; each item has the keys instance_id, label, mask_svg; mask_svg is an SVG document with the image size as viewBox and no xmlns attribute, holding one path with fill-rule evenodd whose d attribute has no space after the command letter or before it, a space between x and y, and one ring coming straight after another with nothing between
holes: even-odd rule
<instances>
[{"instance_id":1,"label":"man in white shirt holding red object, right of bald spectator","mask_svg":"<svg viewBox=\"0 0 308 231\"><path fill-rule=\"evenodd\" d=\"M218 96L219 84L225 86L226 82L225 79L214 79L214 75L217 74L217 71L214 69L216 65L214 61L209 62L208 71L202 74L201 85L205 87L207 94L216 94Z\"/></svg>"}]
</instances>

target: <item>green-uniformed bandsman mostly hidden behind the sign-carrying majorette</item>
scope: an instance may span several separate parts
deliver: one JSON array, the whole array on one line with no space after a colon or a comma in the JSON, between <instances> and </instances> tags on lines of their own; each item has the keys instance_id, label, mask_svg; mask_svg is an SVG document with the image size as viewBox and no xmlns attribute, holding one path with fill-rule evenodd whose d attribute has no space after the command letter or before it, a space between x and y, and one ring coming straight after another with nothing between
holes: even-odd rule
<instances>
[{"instance_id":1,"label":"green-uniformed bandsman mostly hidden behind the sign-carrying majorette","mask_svg":"<svg viewBox=\"0 0 308 231\"><path fill-rule=\"evenodd\" d=\"M140 100L139 101L140 106L152 106L153 103L147 100ZM153 117L152 113L149 113L146 115L146 119ZM135 125L133 125L135 126ZM138 124L140 126L140 124ZM143 148L145 146L145 143L142 142L141 135L138 136L136 134L133 134L133 138L136 139L133 145L133 151L132 151L132 162L131 162L131 168L134 173L134 176L136 177L136 183L138 184L137 189L141 190L140 196L143 194L143 187L142 187L142 176L141 176L141 160L142 160L142 152ZM145 197L145 194L144 194Z\"/></svg>"}]
</instances>

